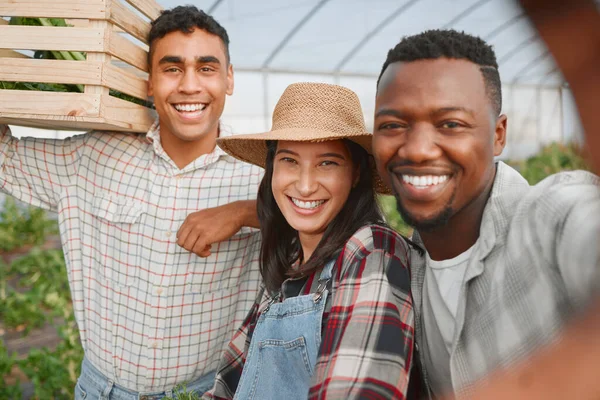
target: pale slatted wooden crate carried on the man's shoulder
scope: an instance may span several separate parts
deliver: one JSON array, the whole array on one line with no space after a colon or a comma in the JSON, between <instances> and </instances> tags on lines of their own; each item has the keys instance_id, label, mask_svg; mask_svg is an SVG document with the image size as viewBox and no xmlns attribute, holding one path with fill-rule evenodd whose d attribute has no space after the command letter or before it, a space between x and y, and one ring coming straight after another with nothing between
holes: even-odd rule
<instances>
[{"instance_id":1,"label":"pale slatted wooden crate carried on the man's shoulder","mask_svg":"<svg viewBox=\"0 0 600 400\"><path fill-rule=\"evenodd\" d=\"M160 11L155 0L1 0L1 17L65 18L73 26L12 26L0 19L0 81L79 84L85 89L0 89L0 123L147 131L154 112L111 96L109 90L146 99L146 37L150 20ZM86 60L33 59L22 50L82 51Z\"/></svg>"}]
</instances>

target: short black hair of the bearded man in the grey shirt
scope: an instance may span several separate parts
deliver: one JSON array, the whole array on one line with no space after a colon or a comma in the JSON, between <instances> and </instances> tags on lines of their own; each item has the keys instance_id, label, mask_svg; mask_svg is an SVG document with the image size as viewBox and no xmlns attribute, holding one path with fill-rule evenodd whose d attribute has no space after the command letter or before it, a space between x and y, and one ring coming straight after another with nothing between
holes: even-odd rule
<instances>
[{"instance_id":1,"label":"short black hair of the bearded man in the grey shirt","mask_svg":"<svg viewBox=\"0 0 600 400\"><path fill-rule=\"evenodd\" d=\"M392 63L438 58L464 59L479 65L494 112L500 115L502 84L492 46L477 36L454 29L433 29L402 38L400 43L388 52L377 78L377 86L379 87L379 81L386 68Z\"/></svg>"}]
</instances>

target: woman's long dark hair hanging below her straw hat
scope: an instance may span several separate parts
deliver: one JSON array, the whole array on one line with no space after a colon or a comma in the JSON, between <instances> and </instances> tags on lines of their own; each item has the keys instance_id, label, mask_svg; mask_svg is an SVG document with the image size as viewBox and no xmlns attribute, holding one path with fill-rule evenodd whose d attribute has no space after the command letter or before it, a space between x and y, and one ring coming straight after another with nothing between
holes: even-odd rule
<instances>
[{"instance_id":1,"label":"woman's long dark hair hanging below her straw hat","mask_svg":"<svg viewBox=\"0 0 600 400\"><path fill-rule=\"evenodd\" d=\"M363 226L385 224L375 198L369 154L360 145L347 139L343 141L352 162L359 168L360 178L308 260L303 260L298 232L288 224L273 197L271 180L277 142L267 141L265 175L258 189L257 209L262 235L260 272L271 293L277 292L286 278L305 276L322 267ZM297 260L305 263L291 269Z\"/></svg>"}]
</instances>

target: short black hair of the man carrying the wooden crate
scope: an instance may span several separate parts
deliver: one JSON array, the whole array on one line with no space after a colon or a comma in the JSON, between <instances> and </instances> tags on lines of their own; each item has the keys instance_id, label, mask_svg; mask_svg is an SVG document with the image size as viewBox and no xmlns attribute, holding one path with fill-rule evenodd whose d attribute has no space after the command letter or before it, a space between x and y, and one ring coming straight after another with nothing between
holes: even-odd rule
<instances>
[{"instance_id":1,"label":"short black hair of the man carrying the wooden crate","mask_svg":"<svg viewBox=\"0 0 600 400\"><path fill-rule=\"evenodd\" d=\"M175 31L192 33L195 28L202 29L221 39L225 48L227 64L229 64L229 36L225 28L204 11L199 10L195 6L188 5L164 10L158 18L152 21L152 26L148 33L148 44L150 45L150 51L148 51L148 69L152 65L152 47L155 40L161 39L165 35Z\"/></svg>"}]
</instances>

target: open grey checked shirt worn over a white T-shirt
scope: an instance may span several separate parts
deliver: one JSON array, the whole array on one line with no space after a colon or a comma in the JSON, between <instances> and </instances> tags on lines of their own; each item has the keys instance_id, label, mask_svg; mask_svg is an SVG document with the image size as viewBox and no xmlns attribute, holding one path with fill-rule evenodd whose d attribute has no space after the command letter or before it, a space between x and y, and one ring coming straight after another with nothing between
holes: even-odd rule
<instances>
[{"instance_id":1,"label":"open grey checked shirt worn over a white T-shirt","mask_svg":"<svg viewBox=\"0 0 600 400\"><path fill-rule=\"evenodd\" d=\"M413 239L423 245L418 233ZM600 178L563 172L530 186L498 163L458 305L450 374L459 397L556 339L600 296L599 239ZM425 260L416 252L411 270L416 341L423 347Z\"/></svg>"}]
</instances>

